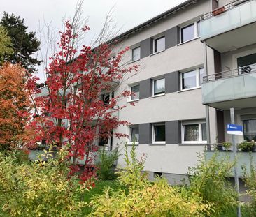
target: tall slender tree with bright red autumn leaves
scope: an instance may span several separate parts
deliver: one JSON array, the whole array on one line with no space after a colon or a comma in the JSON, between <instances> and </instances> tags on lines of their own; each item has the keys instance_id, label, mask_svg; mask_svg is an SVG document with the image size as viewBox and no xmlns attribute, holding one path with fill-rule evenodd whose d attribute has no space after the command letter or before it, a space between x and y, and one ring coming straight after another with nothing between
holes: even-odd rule
<instances>
[{"instance_id":1,"label":"tall slender tree with bright red autumn leaves","mask_svg":"<svg viewBox=\"0 0 256 217\"><path fill-rule=\"evenodd\" d=\"M115 91L127 73L137 71L138 66L120 66L125 50L121 50L110 59L113 45L101 43L97 47L83 46L78 52L74 48L78 33L74 32L73 24L65 22L65 31L60 35L59 52L50 58L47 68L46 86L38 89L36 77L27 82L34 105L34 114L27 129L34 130L36 141L46 140L48 144L57 146L69 145L70 156L76 159L85 157L86 180L91 176L90 167L93 163L97 147L94 141L99 137L122 137L124 134L113 132L120 125L128 124L115 115L123 107L118 107L118 100L131 95L129 91L115 92L112 98L102 100L102 93ZM83 31L88 31L84 27Z\"/></svg>"}]
</instances>

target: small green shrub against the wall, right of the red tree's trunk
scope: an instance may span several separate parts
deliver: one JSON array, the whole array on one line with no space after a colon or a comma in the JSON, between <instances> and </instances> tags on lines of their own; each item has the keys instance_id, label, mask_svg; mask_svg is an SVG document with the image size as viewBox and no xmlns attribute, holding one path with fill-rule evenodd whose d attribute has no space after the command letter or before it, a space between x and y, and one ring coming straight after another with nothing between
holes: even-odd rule
<instances>
[{"instance_id":1,"label":"small green shrub against the wall, right of the red tree's trunk","mask_svg":"<svg viewBox=\"0 0 256 217\"><path fill-rule=\"evenodd\" d=\"M113 151L98 151L99 163L97 163L97 177L102 180L116 179L115 162L118 160L118 149Z\"/></svg>"}]
</instances>

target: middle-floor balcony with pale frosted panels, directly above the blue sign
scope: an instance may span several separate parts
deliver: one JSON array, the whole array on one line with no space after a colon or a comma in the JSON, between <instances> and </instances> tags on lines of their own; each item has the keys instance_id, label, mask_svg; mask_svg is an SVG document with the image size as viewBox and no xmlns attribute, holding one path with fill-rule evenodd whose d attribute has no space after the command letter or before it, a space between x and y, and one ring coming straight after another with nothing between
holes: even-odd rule
<instances>
[{"instance_id":1,"label":"middle-floor balcony with pale frosted panels, directly above the blue sign","mask_svg":"<svg viewBox=\"0 0 256 217\"><path fill-rule=\"evenodd\" d=\"M204 77L202 100L221 110L256 107L256 64Z\"/></svg>"}]
</instances>

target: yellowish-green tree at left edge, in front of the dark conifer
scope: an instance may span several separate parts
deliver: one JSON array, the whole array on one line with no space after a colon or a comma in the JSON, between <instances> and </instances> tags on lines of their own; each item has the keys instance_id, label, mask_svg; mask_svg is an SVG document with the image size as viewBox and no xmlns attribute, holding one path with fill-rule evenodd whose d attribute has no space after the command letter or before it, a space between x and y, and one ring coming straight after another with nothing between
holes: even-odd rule
<instances>
[{"instance_id":1,"label":"yellowish-green tree at left edge, in front of the dark conifer","mask_svg":"<svg viewBox=\"0 0 256 217\"><path fill-rule=\"evenodd\" d=\"M8 31L0 26L0 64L3 63L5 57L13 54L13 49L11 48L11 39L8 36Z\"/></svg>"}]
</instances>

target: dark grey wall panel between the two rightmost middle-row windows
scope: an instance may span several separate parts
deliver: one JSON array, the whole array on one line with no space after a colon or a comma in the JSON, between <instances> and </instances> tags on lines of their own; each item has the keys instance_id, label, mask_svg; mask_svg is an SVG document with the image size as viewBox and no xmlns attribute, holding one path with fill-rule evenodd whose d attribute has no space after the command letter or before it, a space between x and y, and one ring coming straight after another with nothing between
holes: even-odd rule
<instances>
[{"instance_id":1,"label":"dark grey wall panel between the two rightmost middle-row windows","mask_svg":"<svg viewBox=\"0 0 256 217\"><path fill-rule=\"evenodd\" d=\"M165 93L180 91L180 73L173 72L165 74Z\"/></svg>"}]
</instances>

